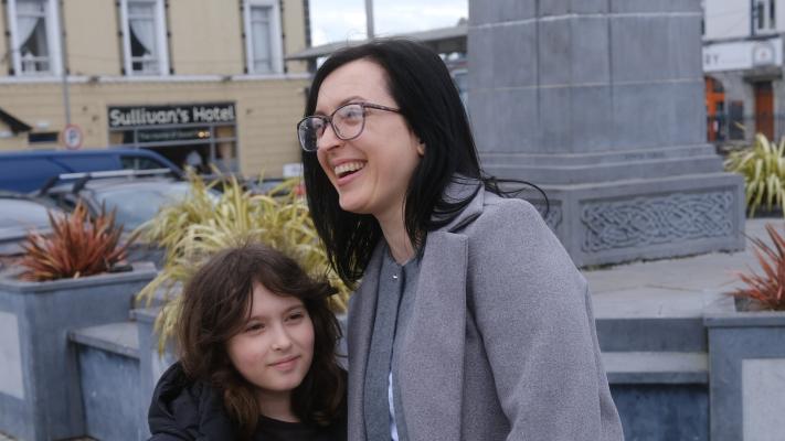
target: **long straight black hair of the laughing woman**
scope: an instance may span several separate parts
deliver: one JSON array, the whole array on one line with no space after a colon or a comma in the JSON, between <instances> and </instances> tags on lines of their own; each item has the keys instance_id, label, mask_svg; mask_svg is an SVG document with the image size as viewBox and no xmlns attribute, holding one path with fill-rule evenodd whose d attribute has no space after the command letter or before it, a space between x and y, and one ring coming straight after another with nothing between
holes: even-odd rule
<instances>
[{"instance_id":1,"label":"long straight black hair of the laughing woman","mask_svg":"<svg viewBox=\"0 0 785 441\"><path fill-rule=\"evenodd\" d=\"M423 44L401 39L384 39L333 53L319 67L308 94L305 115L316 111L319 88L337 68L358 60L380 65L386 73L386 87L414 135L425 144L425 154L414 170L405 197L406 234L417 249L429 230L448 224L469 197L444 201L443 192L456 174L485 179L477 148L458 90L442 58ZM371 215L349 213L338 204L338 193L321 170L316 153L303 152L308 205L330 261L349 286L365 270L381 227ZM480 186L477 186L479 191ZM476 193L476 192L475 192Z\"/></svg>"}]
</instances>

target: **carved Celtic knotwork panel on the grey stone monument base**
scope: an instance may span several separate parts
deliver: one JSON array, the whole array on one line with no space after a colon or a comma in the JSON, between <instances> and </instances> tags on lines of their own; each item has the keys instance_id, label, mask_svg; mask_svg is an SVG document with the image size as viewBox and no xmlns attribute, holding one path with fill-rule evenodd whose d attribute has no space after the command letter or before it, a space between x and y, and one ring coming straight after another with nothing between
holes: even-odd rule
<instances>
[{"instance_id":1,"label":"carved Celtic knotwork panel on the grey stone monument base","mask_svg":"<svg viewBox=\"0 0 785 441\"><path fill-rule=\"evenodd\" d=\"M672 194L582 206L584 251L730 236L733 193Z\"/></svg>"}]
</instances>

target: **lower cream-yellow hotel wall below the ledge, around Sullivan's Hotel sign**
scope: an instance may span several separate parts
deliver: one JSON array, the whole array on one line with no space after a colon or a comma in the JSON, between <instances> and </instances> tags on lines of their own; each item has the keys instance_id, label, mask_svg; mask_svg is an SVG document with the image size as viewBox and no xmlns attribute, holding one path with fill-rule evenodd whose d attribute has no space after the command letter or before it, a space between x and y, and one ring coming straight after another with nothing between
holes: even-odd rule
<instances>
[{"instance_id":1,"label":"lower cream-yellow hotel wall below the ledge, around Sullivan's Hotel sign","mask_svg":"<svg viewBox=\"0 0 785 441\"><path fill-rule=\"evenodd\" d=\"M72 121L85 133L84 148L105 148L108 106L236 103L237 154L241 172L279 178L283 165L299 162L295 123L303 114L306 79L247 82L83 83L71 86ZM0 84L3 109L36 126L60 131L65 125L62 89L57 83ZM0 122L0 132L7 130ZM49 146L50 148L55 146ZM26 135L0 138L0 150L28 148Z\"/></svg>"}]
</instances>

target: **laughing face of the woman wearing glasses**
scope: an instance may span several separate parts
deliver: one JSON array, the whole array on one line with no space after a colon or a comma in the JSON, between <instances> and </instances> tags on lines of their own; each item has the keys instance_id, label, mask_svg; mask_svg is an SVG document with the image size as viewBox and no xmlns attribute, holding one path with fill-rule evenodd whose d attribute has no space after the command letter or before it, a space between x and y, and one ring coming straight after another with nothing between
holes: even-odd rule
<instances>
[{"instance_id":1,"label":"laughing face of the woman wearing glasses","mask_svg":"<svg viewBox=\"0 0 785 441\"><path fill-rule=\"evenodd\" d=\"M329 116L348 103L397 108L388 93L385 71L368 60L347 63L325 78L316 114ZM394 220L403 219L406 187L423 153L424 146L403 116L373 108L365 109L365 126L359 137L344 141L328 125L317 150L341 208Z\"/></svg>"}]
</instances>

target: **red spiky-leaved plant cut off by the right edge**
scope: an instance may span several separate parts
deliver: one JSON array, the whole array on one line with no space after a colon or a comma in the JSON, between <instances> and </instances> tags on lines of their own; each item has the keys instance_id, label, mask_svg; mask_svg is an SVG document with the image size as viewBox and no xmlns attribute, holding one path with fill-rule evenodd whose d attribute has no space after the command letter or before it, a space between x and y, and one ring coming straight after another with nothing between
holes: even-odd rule
<instances>
[{"instance_id":1,"label":"red spiky-leaved plant cut off by the right edge","mask_svg":"<svg viewBox=\"0 0 785 441\"><path fill-rule=\"evenodd\" d=\"M738 298L753 300L764 309L783 311L785 310L785 238L783 238L772 224L766 224L766 233L772 239L770 246L761 238L751 238L759 263L763 269L763 275L754 271L750 273L739 273L739 278L746 283L745 288L740 288L733 292Z\"/></svg>"}]
</instances>

